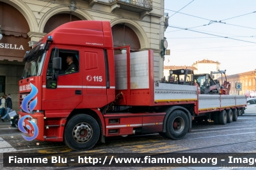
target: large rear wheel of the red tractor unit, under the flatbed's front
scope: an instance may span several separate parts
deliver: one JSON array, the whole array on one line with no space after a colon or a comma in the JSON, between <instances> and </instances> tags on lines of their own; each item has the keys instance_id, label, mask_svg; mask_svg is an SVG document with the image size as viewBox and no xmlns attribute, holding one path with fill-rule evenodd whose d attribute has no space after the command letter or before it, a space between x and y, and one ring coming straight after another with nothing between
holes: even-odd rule
<instances>
[{"instance_id":1,"label":"large rear wheel of the red tractor unit, under the flatbed's front","mask_svg":"<svg viewBox=\"0 0 256 170\"><path fill-rule=\"evenodd\" d=\"M189 119L184 111L173 111L166 122L166 137L170 139L181 139L189 129Z\"/></svg>"}]
</instances>

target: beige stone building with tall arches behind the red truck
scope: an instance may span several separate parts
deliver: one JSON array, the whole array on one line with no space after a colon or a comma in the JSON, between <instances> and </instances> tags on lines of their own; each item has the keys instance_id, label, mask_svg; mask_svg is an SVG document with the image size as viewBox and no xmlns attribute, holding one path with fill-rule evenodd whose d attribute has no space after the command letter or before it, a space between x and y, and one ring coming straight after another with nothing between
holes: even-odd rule
<instances>
[{"instance_id":1,"label":"beige stone building with tall arches behind the red truck","mask_svg":"<svg viewBox=\"0 0 256 170\"><path fill-rule=\"evenodd\" d=\"M19 79L27 50L54 28L74 20L108 20L113 45L131 52L154 50L154 77L163 77L164 0L1 0L0 95L12 94L19 109Z\"/></svg>"}]
</instances>

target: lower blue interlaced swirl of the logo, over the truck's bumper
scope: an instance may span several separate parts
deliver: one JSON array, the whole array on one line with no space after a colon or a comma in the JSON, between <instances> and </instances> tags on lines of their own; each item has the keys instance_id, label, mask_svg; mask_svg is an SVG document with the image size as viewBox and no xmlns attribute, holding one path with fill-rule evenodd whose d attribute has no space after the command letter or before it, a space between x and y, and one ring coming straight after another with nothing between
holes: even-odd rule
<instances>
[{"instance_id":1,"label":"lower blue interlaced swirl of the logo, over the truck's bumper","mask_svg":"<svg viewBox=\"0 0 256 170\"><path fill-rule=\"evenodd\" d=\"M29 115L22 116L22 118L20 118L20 120L19 120L19 122L18 122L19 130L20 130L21 132L23 132L24 134L28 134L28 132L25 130L25 128L24 128L23 125L22 125L22 123L24 122L24 120L25 120L26 118L32 118L32 117L29 116ZM34 128L34 135L31 136L31 137L27 137L27 136L25 136L25 135L22 135L22 137L23 137L24 139L26 139L27 141L32 141L32 140L36 139L36 137L37 137L37 135L38 135L38 127L37 127L37 125L36 125L36 123L35 123L34 121L29 120L29 123L31 123L31 125L32 125L33 128ZM26 128L28 128L29 130L31 130L31 127L30 127L29 125L26 125Z\"/></svg>"}]
</instances>

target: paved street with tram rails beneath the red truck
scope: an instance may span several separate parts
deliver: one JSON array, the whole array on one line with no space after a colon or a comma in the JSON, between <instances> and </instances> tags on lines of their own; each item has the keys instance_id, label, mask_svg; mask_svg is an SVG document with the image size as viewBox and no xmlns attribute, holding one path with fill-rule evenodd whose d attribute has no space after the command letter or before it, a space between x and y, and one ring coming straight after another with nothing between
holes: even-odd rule
<instances>
[{"instance_id":1,"label":"paved street with tram rails beneath the red truck","mask_svg":"<svg viewBox=\"0 0 256 170\"><path fill-rule=\"evenodd\" d=\"M193 123L192 132L184 139L173 141L159 134L131 135L128 137L108 138L105 144L99 143L90 151L74 152L63 143L46 143L26 141L17 128L2 123L0 134L0 150L20 153L255 153L256 152L256 115L244 114L236 122L226 125L214 125L213 121ZM2 155L3 156L3 155ZM3 157L1 158L3 166ZM63 167L45 167L46 169L63 169ZM108 169L108 167L104 167ZM121 167L120 167L121 168ZM116 168L116 169L120 169ZM151 167L150 167L151 168ZM149 167L127 167L125 169L150 169ZM175 167L164 167L173 169ZM201 167L205 168L205 167ZM221 169L211 167L210 169ZM12 169L12 167L4 167ZM15 169L30 169L16 167ZM72 169L81 169L73 167ZM109 167L109 169L111 169ZM124 169L124 167L122 167ZM156 167L155 169L159 169ZM177 167L177 169L193 169L193 167ZM197 168L196 168L197 169ZM241 169L241 168L240 168Z\"/></svg>"}]
</instances>

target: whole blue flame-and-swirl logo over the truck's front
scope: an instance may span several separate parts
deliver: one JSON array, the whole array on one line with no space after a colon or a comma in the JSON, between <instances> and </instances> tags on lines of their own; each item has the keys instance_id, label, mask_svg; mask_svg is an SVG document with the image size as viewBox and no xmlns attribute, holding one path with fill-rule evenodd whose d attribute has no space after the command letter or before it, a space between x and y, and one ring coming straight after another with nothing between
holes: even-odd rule
<instances>
[{"instance_id":1,"label":"whole blue flame-and-swirl logo over the truck's front","mask_svg":"<svg viewBox=\"0 0 256 170\"><path fill-rule=\"evenodd\" d=\"M37 97L31 101L29 103L29 101L34 98L36 96L36 94L38 93L38 89L36 88L36 86L34 86L32 83L30 83L30 86L31 86L31 92L26 96L24 97L22 103L21 103L21 108L24 112L28 112L29 114L33 111L33 109L35 109L36 107L36 104L37 104ZM22 116L18 122L18 127L19 127L19 130L21 132L23 132L24 134L28 134L28 132L25 130L24 126L23 126L23 122L26 118L32 118L31 116L29 115L26 115L26 116ZM34 140L37 135L38 135L38 127L36 125L36 123L34 121L31 121L29 120L29 123L31 123L31 125L33 126L34 128L34 135L31 136L31 137L27 137L25 135L22 135L22 137L24 139L26 139L27 141L32 141ZM26 128L28 128L29 130L32 130L31 126L30 125L26 125Z\"/></svg>"}]
</instances>

